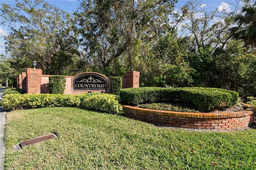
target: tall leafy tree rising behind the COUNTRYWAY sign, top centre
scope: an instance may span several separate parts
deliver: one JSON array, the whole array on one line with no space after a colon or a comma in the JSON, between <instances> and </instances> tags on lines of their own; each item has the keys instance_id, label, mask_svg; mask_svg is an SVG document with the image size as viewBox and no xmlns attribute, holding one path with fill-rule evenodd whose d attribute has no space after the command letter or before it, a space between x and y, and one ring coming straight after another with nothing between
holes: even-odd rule
<instances>
[{"instance_id":1,"label":"tall leafy tree rising behind the COUNTRYWAY sign, top centre","mask_svg":"<svg viewBox=\"0 0 256 170\"><path fill-rule=\"evenodd\" d=\"M172 0L83 0L75 12L86 61L106 69L126 55L126 67L136 64L138 45L162 34L172 12ZM161 28L161 29L160 29Z\"/></svg>"}]
</instances>

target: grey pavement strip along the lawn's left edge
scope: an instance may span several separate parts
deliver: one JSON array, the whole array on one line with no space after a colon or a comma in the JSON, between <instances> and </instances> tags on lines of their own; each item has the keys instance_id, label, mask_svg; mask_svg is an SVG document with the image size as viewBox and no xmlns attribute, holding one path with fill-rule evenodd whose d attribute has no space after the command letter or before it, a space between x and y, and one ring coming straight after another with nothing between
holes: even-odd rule
<instances>
[{"instance_id":1,"label":"grey pavement strip along the lawn's left edge","mask_svg":"<svg viewBox=\"0 0 256 170\"><path fill-rule=\"evenodd\" d=\"M3 92L6 87L0 88L0 101L2 100ZM0 105L0 170L4 170L4 154L5 154L5 144L4 144L4 126L6 123L6 111Z\"/></svg>"}]
</instances>

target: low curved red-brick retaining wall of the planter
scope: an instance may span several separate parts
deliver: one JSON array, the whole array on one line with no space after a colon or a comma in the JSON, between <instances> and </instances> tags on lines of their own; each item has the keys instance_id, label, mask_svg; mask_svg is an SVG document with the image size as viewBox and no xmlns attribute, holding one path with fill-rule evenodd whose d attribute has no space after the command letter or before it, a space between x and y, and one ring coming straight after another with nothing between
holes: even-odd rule
<instances>
[{"instance_id":1,"label":"low curved red-brick retaining wall of the planter","mask_svg":"<svg viewBox=\"0 0 256 170\"><path fill-rule=\"evenodd\" d=\"M187 113L143 109L123 105L125 117L137 119L157 126L238 129L248 127L254 121L255 107L241 103L246 110L230 113Z\"/></svg>"}]
</instances>

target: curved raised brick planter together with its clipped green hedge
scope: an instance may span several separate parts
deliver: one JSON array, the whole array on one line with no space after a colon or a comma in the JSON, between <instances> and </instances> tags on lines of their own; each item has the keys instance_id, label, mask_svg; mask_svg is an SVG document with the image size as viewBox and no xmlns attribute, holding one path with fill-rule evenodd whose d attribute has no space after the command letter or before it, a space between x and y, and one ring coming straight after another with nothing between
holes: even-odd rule
<instances>
[{"instance_id":1,"label":"curved raised brick planter together with its clipped green hedge","mask_svg":"<svg viewBox=\"0 0 256 170\"><path fill-rule=\"evenodd\" d=\"M141 88L122 89L121 99L132 105L123 105L125 116L145 121L159 126L204 128L204 129L237 129L248 127L254 121L255 108L244 105L246 109L231 111L238 102L238 93L214 88ZM200 110L191 111L163 111L136 107L140 103L153 103L158 101L191 102ZM131 103L134 101L133 103ZM229 108L229 111L216 111L216 109ZM189 109L188 109L189 110Z\"/></svg>"}]
</instances>

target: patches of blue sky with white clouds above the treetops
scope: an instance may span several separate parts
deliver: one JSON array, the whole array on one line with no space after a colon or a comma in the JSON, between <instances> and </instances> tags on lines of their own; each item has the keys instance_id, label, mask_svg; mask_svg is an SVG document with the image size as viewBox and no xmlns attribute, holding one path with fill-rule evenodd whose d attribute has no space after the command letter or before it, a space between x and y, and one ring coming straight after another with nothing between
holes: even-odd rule
<instances>
[{"instance_id":1,"label":"patches of blue sky with white clouds above the treetops","mask_svg":"<svg viewBox=\"0 0 256 170\"><path fill-rule=\"evenodd\" d=\"M178 0L178 3L176 4L175 9L178 10L180 6L183 6L187 0ZM202 8L205 8L209 11L212 10L223 10L225 9L227 12L233 10L233 6L231 6L231 3L236 2L235 0L202 0ZM0 0L0 3L6 3L6 4L15 4L15 0ZM52 4L53 6L57 6L60 9L63 9L66 12L69 12L72 14L80 4L79 0L48 0L49 4ZM242 5L242 4L241 4ZM1 6L2 8L2 6ZM8 35L8 28L6 26L0 25L0 54L5 54L4 52L4 36Z\"/></svg>"}]
</instances>

